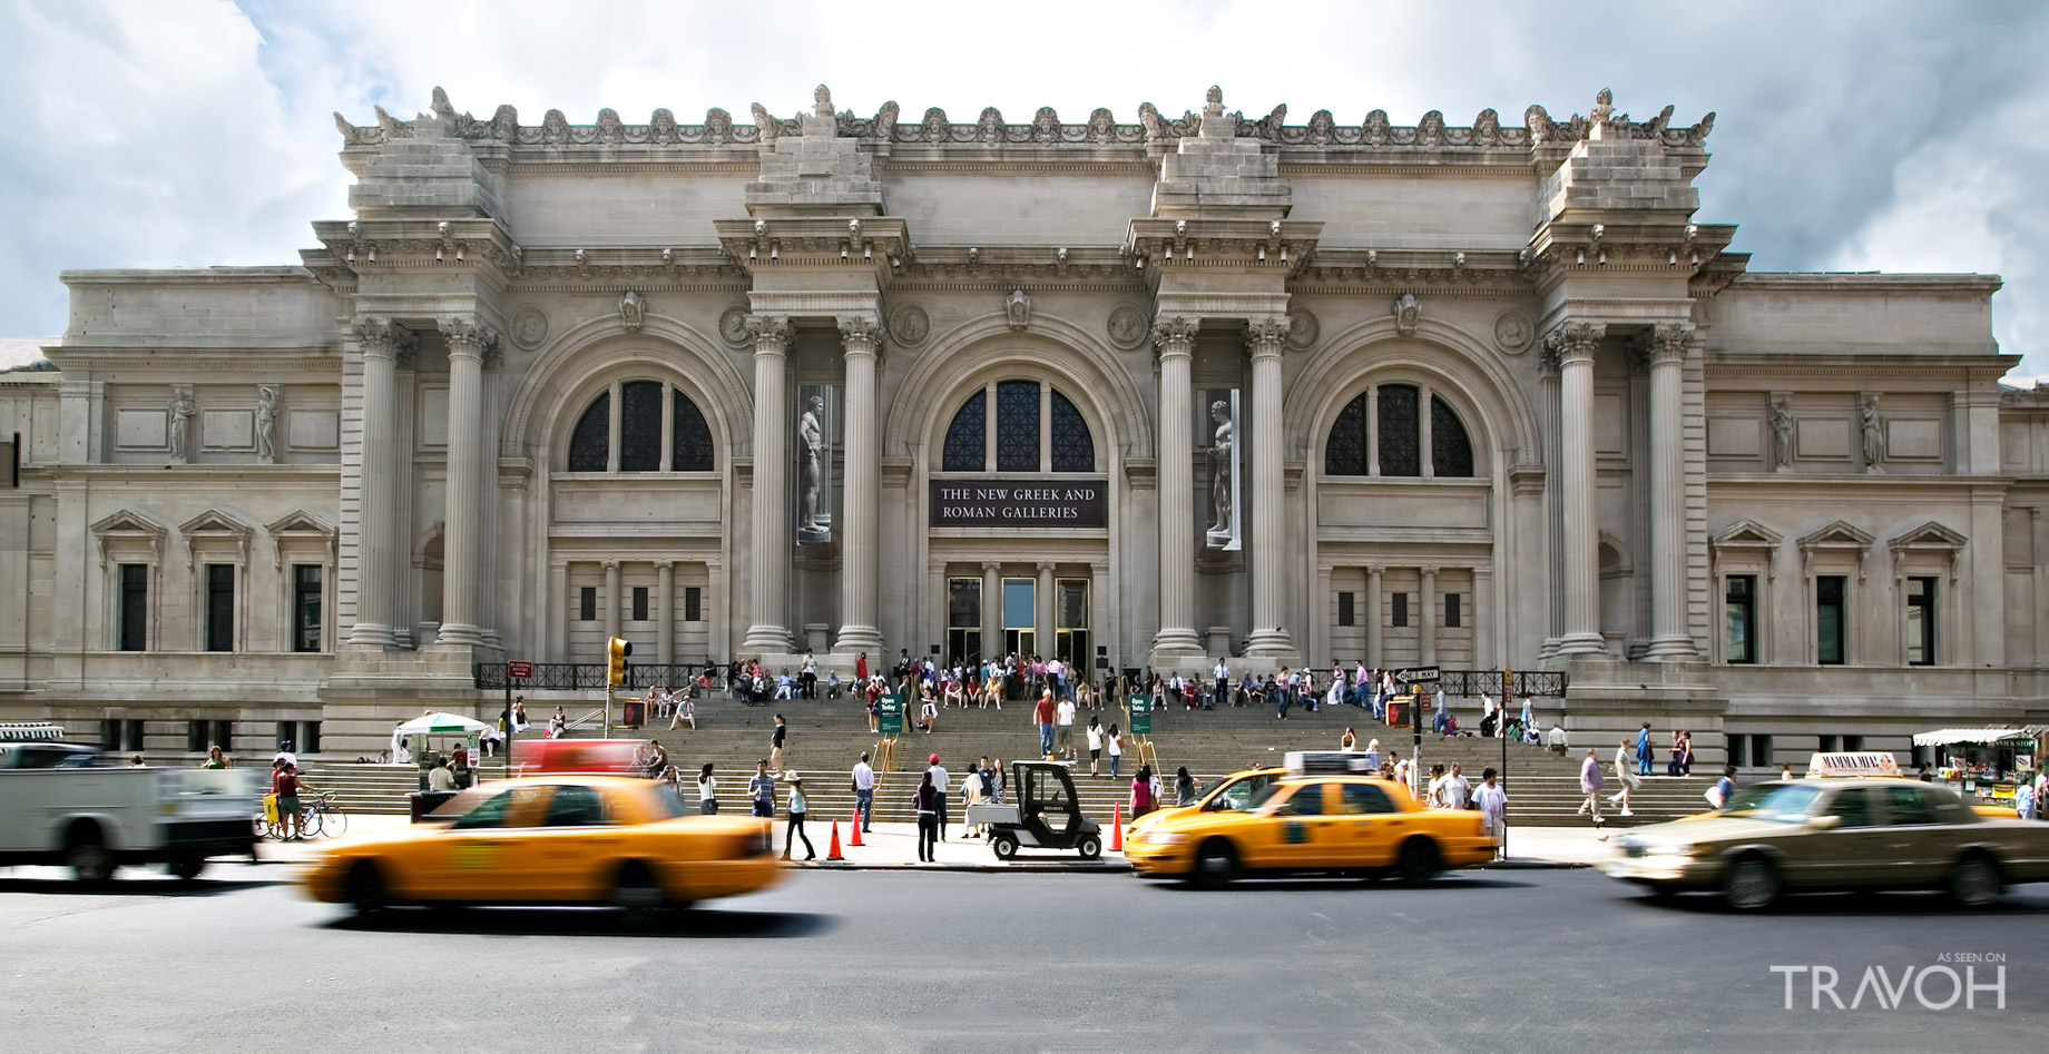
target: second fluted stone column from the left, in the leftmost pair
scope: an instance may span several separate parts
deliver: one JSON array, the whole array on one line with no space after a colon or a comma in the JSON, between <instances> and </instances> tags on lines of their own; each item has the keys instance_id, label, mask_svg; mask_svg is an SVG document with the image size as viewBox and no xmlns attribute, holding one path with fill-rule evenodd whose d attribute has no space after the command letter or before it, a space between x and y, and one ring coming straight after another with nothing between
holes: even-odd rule
<instances>
[{"instance_id":1,"label":"second fluted stone column from the left, in the leftmost pair","mask_svg":"<svg viewBox=\"0 0 2049 1054\"><path fill-rule=\"evenodd\" d=\"M477 563L484 528L484 352L498 342L473 319L443 319L449 342L449 481L443 487L441 634L436 647L477 647Z\"/></svg>"}]
</instances>

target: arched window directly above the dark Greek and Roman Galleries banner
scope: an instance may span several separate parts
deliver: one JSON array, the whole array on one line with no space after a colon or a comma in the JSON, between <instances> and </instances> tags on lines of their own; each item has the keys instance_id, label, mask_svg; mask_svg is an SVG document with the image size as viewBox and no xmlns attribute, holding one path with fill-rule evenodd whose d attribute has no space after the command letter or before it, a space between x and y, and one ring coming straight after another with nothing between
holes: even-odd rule
<instances>
[{"instance_id":1,"label":"arched window directly above the dark Greek and Roman Galleries banner","mask_svg":"<svg viewBox=\"0 0 2049 1054\"><path fill-rule=\"evenodd\" d=\"M994 418L990 415L992 395L996 401ZM1041 422L1051 428L1051 434L1041 430ZM992 430L994 465L988 456ZM940 450L940 471L1092 473L1096 471L1096 438L1088 430L1082 409L1065 393L1039 381L998 381L969 395L953 413Z\"/></svg>"}]
</instances>

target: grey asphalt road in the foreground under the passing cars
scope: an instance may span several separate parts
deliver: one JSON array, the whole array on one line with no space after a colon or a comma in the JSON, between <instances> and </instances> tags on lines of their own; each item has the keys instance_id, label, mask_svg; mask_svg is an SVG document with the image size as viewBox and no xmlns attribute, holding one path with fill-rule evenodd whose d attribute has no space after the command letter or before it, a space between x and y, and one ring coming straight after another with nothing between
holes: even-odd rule
<instances>
[{"instance_id":1,"label":"grey asphalt road in the foreground under the passing cars","mask_svg":"<svg viewBox=\"0 0 2049 1054\"><path fill-rule=\"evenodd\" d=\"M629 931L602 911L393 911L357 923L281 866L107 892L0 872L10 1050L2033 1050L2049 886L1760 917L1656 905L1586 870L1426 888L1106 874L797 874ZM2004 956L1998 993L1842 1003L1869 966ZM1994 980L1996 962L1975 964ZM1787 982L1793 1009L1787 1009ZM1942 1003L1945 974L1922 995Z\"/></svg>"}]
</instances>

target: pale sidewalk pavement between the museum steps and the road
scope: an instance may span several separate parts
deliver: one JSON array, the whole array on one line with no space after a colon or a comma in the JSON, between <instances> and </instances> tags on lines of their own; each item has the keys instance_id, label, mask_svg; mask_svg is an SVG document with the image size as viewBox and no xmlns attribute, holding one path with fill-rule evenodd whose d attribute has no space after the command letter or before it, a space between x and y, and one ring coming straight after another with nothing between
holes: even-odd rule
<instances>
[{"instance_id":1,"label":"pale sidewalk pavement between the museum steps and the road","mask_svg":"<svg viewBox=\"0 0 2049 1054\"><path fill-rule=\"evenodd\" d=\"M408 827L404 815L350 813L348 835L373 835ZM787 825L775 821L777 851L783 847ZM850 845L852 831L840 821L840 855L846 860L832 864L826 860L832 845L832 821L826 817L805 823L818 860L803 860L803 841L797 841L793 866L820 870L936 870L936 872L1129 872L1123 853L1111 851L1104 841L1102 860L1082 860L1074 849L1018 849L1010 862L996 860L996 849L986 839L967 837L955 823L947 829L947 841L934 845L934 864L918 862L918 825L877 823L873 833L863 833L863 845ZM1590 868L1604 860L1608 837L1617 831L1596 831L1588 827L1510 827L1508 860L1488 864L1488 868ZM1104 831L1106 835L1106 831ZM322 845L334 839L316 841L264 841L256 853L266 864L307 864L320 855Z\"/></svg>"}]
</instances>

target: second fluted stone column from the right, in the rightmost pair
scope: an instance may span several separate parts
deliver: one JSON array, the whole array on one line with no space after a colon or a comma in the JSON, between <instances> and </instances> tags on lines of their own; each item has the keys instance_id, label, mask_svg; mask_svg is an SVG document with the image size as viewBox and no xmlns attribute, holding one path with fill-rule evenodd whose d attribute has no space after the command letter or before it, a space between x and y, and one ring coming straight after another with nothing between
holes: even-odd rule
<instances>
[{"instance_id":1,"label":"second fluted stone column from the right, in the rightmost pair","mask_svg":"<svg viewBox=\"0 0 2049 1054\"><path fill-rule=\"evenodd\" d=\"M1600 639L1600 512L1594 506L1594 350L1606 325L1567 321L1545 342L1559 366L1559 477L1563 491L1565 632L1559 655L1606 651Z\"/></svg>"}]
</instances>

